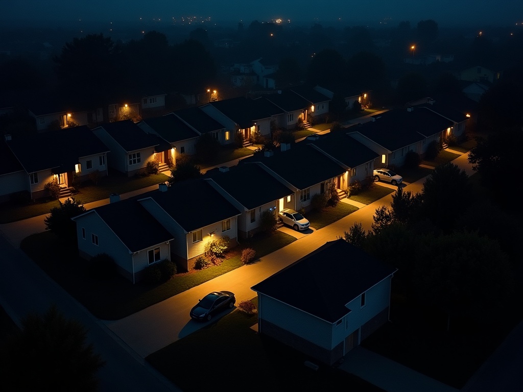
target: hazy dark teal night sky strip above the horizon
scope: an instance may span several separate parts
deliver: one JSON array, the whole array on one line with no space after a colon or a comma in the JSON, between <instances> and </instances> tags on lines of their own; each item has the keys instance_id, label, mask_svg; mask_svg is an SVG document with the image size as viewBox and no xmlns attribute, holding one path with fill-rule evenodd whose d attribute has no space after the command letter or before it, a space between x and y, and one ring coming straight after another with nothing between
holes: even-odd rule
<instances>
[{"instance_id":1,"label":"hazy dark teal night sky strip above the horizon","mask_svg":"<svg viewBox=\"0 0 523 392\"><path fill-rule=\"evenodd\" d=\"M261 5L261 6L260 6ZM420 3L419 0L371 0L366 3L346 0L302 0L282 2L265 0L263 3L231 3L218 0L191 0L190 2L149 0L2 0L0 20L11 24L26 22L105 22L105 21L168 21L181 17L211 18L216 22L246 24L253 20L269 21L281 18L293 23L346 22L346 24L379 24L392 27L401 21L416 24L433 19L441 26L515 25L523 21L523 1L498 0L439 0ZM140 19L141 18L141 19ZM179 19L178 19L179 20Z\"/></svg>"}]
</instances>

